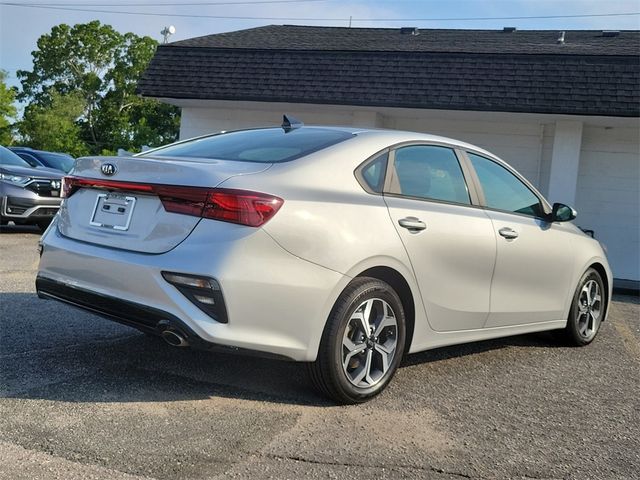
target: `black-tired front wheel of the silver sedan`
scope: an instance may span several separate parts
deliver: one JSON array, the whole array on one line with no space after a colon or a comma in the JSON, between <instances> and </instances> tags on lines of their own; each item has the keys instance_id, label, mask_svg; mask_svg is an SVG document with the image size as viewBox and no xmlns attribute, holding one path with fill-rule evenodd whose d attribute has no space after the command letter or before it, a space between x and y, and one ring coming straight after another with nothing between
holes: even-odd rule
<instances>
[{"instance_id":1,"label":"black-tired front wheel of the silver sedan","mask_svg":"<svg viewBox=\"0 0 640 480\"><path fill-rule=\"evenodd\" d=\"M591 288L589 288L591 287ZM597 291L599 300L590 300L586 290ZM582 347L590 344L598 334L602 319L605 315L608 292L597 270L588 269L578 282L573 298L567 326L561 330L562 337L571 345ZM589 304L589 302L591 302Z\"/></svg>"}]
</instances>

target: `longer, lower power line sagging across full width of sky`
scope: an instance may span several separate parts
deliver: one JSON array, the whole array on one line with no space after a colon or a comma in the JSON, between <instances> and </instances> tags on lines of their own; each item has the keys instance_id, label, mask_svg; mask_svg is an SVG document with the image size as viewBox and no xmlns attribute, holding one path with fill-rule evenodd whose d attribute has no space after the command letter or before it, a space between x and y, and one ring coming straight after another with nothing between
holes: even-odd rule
<instances>
[{"instance_id":1,"label":"longer, lower power line sagging across full width of sky","mask_svg":"<svg viewBox=\"0 0 640 480\"><path fill-rule=\"evenodd\" d=\"M276 0L269 0L276 3ZM279 0L292 1L292 0ZM267 3L257 2L257 3ZM317 17L252 17L244 15L203 15L203 14L186 14L186 13L154 13L154 12L131 12L121 10L99 10L89 8L69 8L55 7L51 5L36 5L14 2L0 2L0 5L8 7L23 8L40 8L46 10L65 10L72 12L90 12L90 13L111 13L117 15L140 15L147 17L183 17L183 18L214 18L217 20L277 20L277 21L319 21L319 22L339 22L349 20L348 18L317 18ZM184 5L184 4L182 4ZM560 19L560 18L595 18L595 17L629 17L640 15L640 12L625 13L585 13L577 15L533 15L533 16L512 16L512 17L451 17L451 18L352 18L354 22L471 22L485 20L542 20L542 19Z\"/></svg>"}]
</instances>

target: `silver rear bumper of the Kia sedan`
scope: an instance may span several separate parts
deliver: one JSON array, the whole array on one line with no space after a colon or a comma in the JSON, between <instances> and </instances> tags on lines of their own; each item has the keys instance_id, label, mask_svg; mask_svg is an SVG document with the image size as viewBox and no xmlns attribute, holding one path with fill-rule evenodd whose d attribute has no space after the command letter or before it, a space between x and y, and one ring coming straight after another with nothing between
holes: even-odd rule
<instances>
[{"instance_id":1,"label":"silver rear bumper of the Kia sedan","mask_svg":"<svg viewBox=\"0 0 640 480\"><path fill-rule=\"evenodd\" d=\"M312 361L335 298L348 277L295 257L261 229L203 220L173 250L144 254L92 245L50 228L37 289L140 330L162 320L192 345ZM206 315L162 271L215 278L228 323Z\"/></svg>"}]
</instances>

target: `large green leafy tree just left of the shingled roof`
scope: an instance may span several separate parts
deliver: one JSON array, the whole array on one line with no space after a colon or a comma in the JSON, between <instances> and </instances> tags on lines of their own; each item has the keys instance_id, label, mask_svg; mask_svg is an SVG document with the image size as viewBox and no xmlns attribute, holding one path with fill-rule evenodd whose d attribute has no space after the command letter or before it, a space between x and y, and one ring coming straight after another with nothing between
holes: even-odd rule
<instances>
[{"instance_id":1,"label":"large green leafy tree just left of the shingled roof","mask_svg":"<svg viewBox=\"0 0 640 480\"><path fill-rule=\"evenodd\" d=\"M121 34L98 21L53 27L38 39L38 48L32 52L33 70L18 71L22 83L19 99L29 102L23 123L31 125L21 127L21 133L32 145L48 145L44 138L33 136L44 132L34 130L29 117L43 115L55 102L58 109L72 104L74 108L65 109L65 113L75 112L80 99L82 111L75 121L78 128L61 127L68 135L75 135L68 144L80 142L88 152L100 153L175 140L178 109L135 93L156 46L150 37Z\"/></svg>"}]
</instances>

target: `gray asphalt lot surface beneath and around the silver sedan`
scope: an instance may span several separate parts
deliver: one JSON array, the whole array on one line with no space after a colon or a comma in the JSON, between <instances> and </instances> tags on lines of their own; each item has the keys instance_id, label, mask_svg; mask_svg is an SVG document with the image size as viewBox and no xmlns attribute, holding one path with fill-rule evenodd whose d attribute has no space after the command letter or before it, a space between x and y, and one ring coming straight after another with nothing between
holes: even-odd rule
<instances>
[{"instance_id":1,"label":"gray asphalt lot surface beneath and around the silver sedan","mask_svg":"<svg viewBox=\"0 0 640 480\"><path fill-rule=\"evenodd\" d=\"M301 365L190 350L39 300L39 234L0 234L0 478L640 478L640 306L410 356L372 402Z\"/></svg>"}]
</instances>

